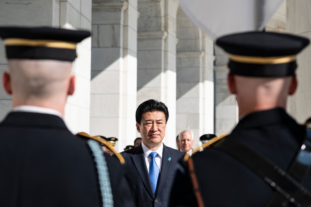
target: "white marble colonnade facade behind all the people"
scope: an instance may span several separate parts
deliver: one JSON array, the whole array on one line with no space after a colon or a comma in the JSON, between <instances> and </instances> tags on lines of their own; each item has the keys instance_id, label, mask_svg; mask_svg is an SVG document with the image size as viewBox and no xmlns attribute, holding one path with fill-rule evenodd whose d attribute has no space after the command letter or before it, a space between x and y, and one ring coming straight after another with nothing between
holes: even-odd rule
<instances>
[{"instance_id":1,"label":"white marble colonnade facade behind all the people","mask_svg":"<svg viewBox=\"0 0 311 207\"><path fill-rule=\"evenodd\" d=\"M268 22L267 31L311 37L308 0L287 0ZM0 25L91 29L78 44L73 64L76 92L67 100L65 122L73 133L117 137L123 151L140 136L137 106L153 98L169 108L164 143L192 129L195 145L205 133L230 132L238 122L235 97L228 92L228 56L193 24L178 0L6 0L0 2ZM7 70L0 41L0 71ZM309 101L310 47L298 57L300 86L289 112L304 121ZM0 118L11 97L0 89Z\"/></svg>"}]
</instances>

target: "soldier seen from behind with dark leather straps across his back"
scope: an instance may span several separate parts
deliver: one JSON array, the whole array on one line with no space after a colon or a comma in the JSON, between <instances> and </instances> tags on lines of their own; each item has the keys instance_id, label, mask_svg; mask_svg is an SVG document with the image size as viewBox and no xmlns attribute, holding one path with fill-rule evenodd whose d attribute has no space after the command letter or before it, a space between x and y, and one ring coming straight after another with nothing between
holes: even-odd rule
<instances>
[{"instance_id":1,"label":"soldier seen from behind with dark leather straps across his back","mask_svg":"<svg viewBox=\"0 0 311 207\"><path fill-rule=\"evenodd\" d=\"M230 53L228 85L239 123L181 162L169 206L310 206L309 138L285 111L297 87L296 54L309 40L250 32L216 43Z\"/></svg>"}]
</instances>

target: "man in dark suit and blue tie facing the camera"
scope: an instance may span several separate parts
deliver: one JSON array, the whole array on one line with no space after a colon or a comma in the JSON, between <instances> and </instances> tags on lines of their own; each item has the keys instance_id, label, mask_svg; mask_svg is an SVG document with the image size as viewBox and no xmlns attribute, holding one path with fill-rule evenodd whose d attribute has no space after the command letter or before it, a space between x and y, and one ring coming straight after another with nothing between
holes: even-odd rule
<instances>
[{"instance_id":1,"label":"man in dark suit and blue tie facing the camera","mask_svg":"<svg viewBox=\"0 0 311 207\"><path fill-rule=\"evenodd\" d=\"M142 143L121 153L137 207L168 206L176 163L184 155L162 143L168 118L164 103L148 100L140 104L136 128Z\"/></svg>"}]
</instances>

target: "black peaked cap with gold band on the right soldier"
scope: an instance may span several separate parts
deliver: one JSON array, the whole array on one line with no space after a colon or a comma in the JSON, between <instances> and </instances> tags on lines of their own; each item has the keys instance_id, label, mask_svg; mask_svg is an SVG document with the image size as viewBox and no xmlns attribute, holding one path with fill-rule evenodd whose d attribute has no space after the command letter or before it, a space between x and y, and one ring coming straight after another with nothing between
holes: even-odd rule
<instances>
[{"instance_id":1,"label":"black peaked cap with gold band on the right soldier","mask_svg":"<svg viewBox=\"0 0 311 207\"><path fill-rule=\"evenodd\" d=\"M309 39L282 33L246 32L223 36L216 44L229 53L230 73L254 77L295 74L296 55Z\"/></svg>"}]
</instances>

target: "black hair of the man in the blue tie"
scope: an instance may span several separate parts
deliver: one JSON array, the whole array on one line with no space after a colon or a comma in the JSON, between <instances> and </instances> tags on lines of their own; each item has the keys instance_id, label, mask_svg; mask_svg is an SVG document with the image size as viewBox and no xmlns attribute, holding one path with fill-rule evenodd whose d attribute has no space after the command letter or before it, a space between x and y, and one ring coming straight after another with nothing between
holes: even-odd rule
<instances>
[{"instance_id":1,"label":"black hair of the man in the blue tie","mask_svg":"<svg viewBox=\"0 0 311 207\"><path fill-rule=\"evenodd\" d=\"M169 110L163 102L154 99L149 99L138 106L135 115L136 122L140 124L143 113L155 111L162 111L165 114L165 123L167 123L167 120L169 119Z\"/></svg>"}]
</instances>

